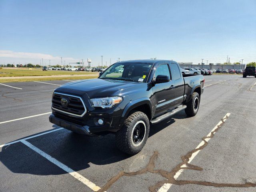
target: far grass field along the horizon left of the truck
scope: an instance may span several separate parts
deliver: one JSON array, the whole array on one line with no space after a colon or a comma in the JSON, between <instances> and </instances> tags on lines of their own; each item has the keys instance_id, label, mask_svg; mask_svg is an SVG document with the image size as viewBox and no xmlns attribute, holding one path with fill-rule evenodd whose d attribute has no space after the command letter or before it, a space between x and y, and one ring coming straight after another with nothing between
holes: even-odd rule
<instances>
[{"instance_id":1,"label":"far grass field along the horizon left of the truck","mask_svg":"<svg viewBox=\"0 0 256 192\"><path fill-rule=\"evenodd\" d=\"M78 74L92 74L98 75L97 72L85 72L85 71L62 71L62 70L49 70L42 71L38 69L0 69L0 77L15 77L15 76L52 76L52 75L78 75Z\"/></svg>"}]
</instances>

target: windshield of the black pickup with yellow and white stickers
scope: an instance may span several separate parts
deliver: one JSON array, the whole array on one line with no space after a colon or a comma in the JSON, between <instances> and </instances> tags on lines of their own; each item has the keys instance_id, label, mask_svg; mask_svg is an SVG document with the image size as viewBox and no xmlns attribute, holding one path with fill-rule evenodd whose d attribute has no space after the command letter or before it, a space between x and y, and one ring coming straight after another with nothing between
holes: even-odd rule
<instances>
[{"instance_id":1,"label":"windshield of the black pickup with yellow and white stickers","mask_svg":"<svg viewBox=\"0 0 256 192\"><path fill-rule=\"evenodd\" d=\"M99 78L146 82L151 68L150 63L115 63Z\"/></svg>"}]
</instances>

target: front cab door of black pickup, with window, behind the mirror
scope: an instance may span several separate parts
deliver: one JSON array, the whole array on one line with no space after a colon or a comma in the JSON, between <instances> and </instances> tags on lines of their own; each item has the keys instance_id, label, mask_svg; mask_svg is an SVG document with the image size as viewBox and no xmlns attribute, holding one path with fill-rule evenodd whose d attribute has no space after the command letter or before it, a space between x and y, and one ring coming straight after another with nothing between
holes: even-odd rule
<instances>
[{"instance_id":1,"label":"front cab door of black pickup, with window, behind the mirror","mask_svg":"<svg viewBox=\"0 0 256 192\"><path fill-rule=\"evenodd\" d=\"M158 75L166 75L170 77L169 82L154 84L152 87L154 94L154 116L157 116L166 110L174 107L174 94L175 94L175 85L172 81L172 76L170 73L169 64L160 64L157 66L153 81Z\"/></svg>"}]
</instances>

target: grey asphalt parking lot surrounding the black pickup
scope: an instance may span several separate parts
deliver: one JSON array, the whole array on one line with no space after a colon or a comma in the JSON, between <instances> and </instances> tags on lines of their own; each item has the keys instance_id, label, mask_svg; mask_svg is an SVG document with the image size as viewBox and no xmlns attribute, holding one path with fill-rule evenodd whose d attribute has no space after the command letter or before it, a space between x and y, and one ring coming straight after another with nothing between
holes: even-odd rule
<instances>
[{"instance_id":1,"label":"grey asphalt parking lot surrounding the black pickup","mask_svg":"<svg viewBox=\"0 0 256 192\"><path fill-rule=\"evenodd\" d=\"M198 114L150 126L135 156L49 122L68 81L0 84L0 191L255 192L256 78L204 77Z\"/></svg>"}]
</instances>

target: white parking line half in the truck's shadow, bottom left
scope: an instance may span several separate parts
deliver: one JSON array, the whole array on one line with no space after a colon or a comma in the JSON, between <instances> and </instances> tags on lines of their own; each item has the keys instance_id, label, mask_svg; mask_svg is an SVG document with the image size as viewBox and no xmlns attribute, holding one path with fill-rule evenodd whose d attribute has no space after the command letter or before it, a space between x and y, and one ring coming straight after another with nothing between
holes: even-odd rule
<instances>
[{"instance_id":1,"label":"white parking line half in the truck's shadow, bottom left","mask_svg":"<svg viewBox=\"0 0 256 192\"><path fill-rule=\"evenodd\" d=\"M85 184L86 186L91 188L92 190L94 190L94 191L100 190L100 187L96 186L96 184L90 182L88 179L86 179L79 173L75 172L68 166L64 165L63 163L59 162L52 156L50 156L50 155L46 154L45 152L43 152L42 150L38 149L37 147L32 145L30 142L27 142L26 140L21 140L20 142L22 142L23 144L28 146L30 149L34 150L35 152L37 152L38 154L40 154L41 156L43 156L44 158L46 158L47 160L49 160L50 162L52 162L53 164L55 164L56 166L61 168L62 170L68 172L70 175L72 175L74 178L76 178L77 180L79 180L80 182L82 182L83 184Z\"/></svg>"}]
</instances>

